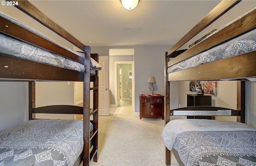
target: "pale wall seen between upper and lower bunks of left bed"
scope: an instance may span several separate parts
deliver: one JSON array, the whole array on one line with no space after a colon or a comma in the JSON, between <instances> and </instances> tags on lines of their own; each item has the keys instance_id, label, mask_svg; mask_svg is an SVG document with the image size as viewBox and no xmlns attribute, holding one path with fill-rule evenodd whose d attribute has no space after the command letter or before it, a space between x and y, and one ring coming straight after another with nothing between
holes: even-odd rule
<instances>
[{"instance_id":1,"label":"pale wall seen between upper and lower bunks of left bed","mask_svg":"<svg viewBox=\"0 0 256 166\"><path fill-rule=\"evenodd\" d=\"M73 103L73 82L36 82L36 107ZM37 114L36 118L74 119L74 115ZM0 130L27 120L28 82L0 82Z\"/></svg>"}]
</instances>

